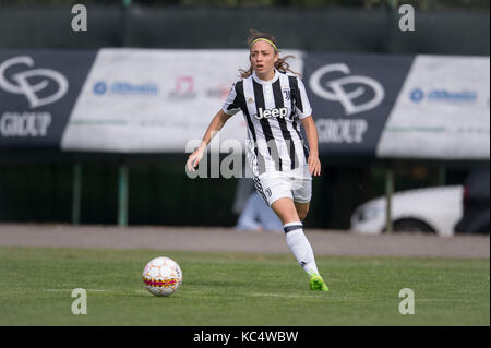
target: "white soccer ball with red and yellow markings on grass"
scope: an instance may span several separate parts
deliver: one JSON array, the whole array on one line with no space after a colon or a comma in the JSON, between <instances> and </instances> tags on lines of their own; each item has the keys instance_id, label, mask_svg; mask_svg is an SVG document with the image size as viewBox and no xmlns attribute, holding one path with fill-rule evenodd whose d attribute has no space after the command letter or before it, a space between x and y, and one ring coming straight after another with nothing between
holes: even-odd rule
<instances>
[{"instance_id":1,"label":"white soccer ball with red and yellow markings on grass","mask_svg":"<svg viewBox=\"0 0 491 348\"><path fill-rule=\"evenodd\" d=\"M181 286L181 267L169 257L155 257L143 268L143 283L155 296L170 296Z\"/></svg>"}]
</instances>

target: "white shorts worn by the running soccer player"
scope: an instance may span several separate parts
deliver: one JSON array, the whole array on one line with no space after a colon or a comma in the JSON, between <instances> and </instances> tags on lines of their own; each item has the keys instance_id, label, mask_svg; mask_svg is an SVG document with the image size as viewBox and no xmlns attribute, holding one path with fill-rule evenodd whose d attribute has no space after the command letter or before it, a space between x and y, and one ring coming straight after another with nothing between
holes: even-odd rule
<instances>
[{"instance_id":1,"label":"white shorts worn by the running soccer player","mask_svg":"<svg viewBox=\"0 0 491 348\"><path fill-rule=\"evenodd\" d=\"M312 197L311 178L298 178L276 171L265 172L253 180L258 193L270 206L282 197L289 197L297 203L309 203Z\"/></svg>"}]
</instances>

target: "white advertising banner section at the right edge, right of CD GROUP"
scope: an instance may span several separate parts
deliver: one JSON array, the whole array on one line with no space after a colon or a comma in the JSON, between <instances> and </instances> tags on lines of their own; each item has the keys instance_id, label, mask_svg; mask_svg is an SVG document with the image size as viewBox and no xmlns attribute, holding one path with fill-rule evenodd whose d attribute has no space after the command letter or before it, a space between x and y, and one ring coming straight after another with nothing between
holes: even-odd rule
<instances>
[{"instance_id":1,"label":"white advertising banner section at the right edge, right of CD GROUP","mask_svg":"<svg viewBox=\"0 0 491 348\"><path fill-rule=\"evenodd\" d=\"M489 160L489 57L417 56L376 156Z\"/></svg>"}]
</instances>

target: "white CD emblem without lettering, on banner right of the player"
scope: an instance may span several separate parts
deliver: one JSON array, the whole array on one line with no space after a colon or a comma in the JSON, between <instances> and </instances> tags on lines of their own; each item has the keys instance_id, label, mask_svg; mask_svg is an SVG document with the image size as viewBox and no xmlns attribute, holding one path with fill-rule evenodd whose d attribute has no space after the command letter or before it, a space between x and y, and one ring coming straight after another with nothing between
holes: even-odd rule
<instances>
[{"instance_id":1,"label":"white CD emblem without lettering, on banner right of the player","mask_svg":"<svg viewBox=\"0 0 491 348\"><path fill-rule=\"evenodd\" d=\"M343 63L324 65L312 73L309 85L312 88L312 92L321 98L340 103L346 115L373 109L384 99L384 87L378 81L367 76L346 76L322 83L321 80L323 80L324 75L331 72L349 74L350 70L348 65ZM355 89L351 88L348 92L348 88L345 87L346 85L358 85L358 87ZM328 87L330 89L325 87ZM371 89L373 96L368 101L356 105L355 99L370 93L367 88Z\"/></svg>"}]
</instances>

